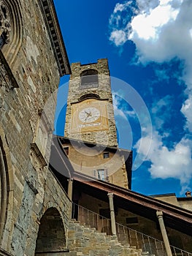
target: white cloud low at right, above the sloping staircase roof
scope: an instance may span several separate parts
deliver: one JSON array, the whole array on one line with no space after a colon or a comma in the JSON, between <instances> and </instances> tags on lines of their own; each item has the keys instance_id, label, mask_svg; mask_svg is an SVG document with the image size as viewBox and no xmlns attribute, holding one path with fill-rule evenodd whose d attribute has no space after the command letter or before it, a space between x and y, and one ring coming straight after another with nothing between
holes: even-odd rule
<instances>
[{"instance_id":1,"label":"white cloud low at right, above the sloping staircase roof","mask_svg":"<svg viewBox=\"0 0 192 256\"><path fill-rule=\"evenodd\" d=\"M183 138L169 150L164 146L161 135L153 132L152 140L145 136L135 145L141 157L145 156L149 143L150 152L146 160L151 162L149 171L152 178L177 178L182 187L188 187L192 178L191 141Z\"/></svg>"}]
</instances>

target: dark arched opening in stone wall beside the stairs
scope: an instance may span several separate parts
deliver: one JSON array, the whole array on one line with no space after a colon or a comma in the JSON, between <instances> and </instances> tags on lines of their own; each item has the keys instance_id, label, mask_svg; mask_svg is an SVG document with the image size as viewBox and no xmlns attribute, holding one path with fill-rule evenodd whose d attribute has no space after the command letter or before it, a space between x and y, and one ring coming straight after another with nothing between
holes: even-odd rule
<instances>
[{"instance_id":1,"label":"dark arched opening in stone wall beside the stairs","mask_svg":"<svg viewBox=\"0 0 192 256\"><path fill-rule=\"evenodd\" d=\"M35 256L59 255L66 252L66 236L63 220L56 208L45 211L40 220Z\"/></svg>"}]
</instances>

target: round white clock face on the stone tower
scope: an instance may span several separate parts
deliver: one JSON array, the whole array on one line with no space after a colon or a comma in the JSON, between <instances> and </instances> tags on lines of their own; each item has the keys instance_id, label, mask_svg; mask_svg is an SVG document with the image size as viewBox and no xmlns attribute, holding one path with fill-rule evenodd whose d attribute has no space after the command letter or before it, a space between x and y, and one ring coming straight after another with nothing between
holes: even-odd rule
<instances>
[{"instance_id":1,"label":"round white clock face on the stone tower","mask_svg":"<svg viewBox=\"0 0 192 256\"><path fill-rule=\"evenodd\" d=\"M89 107L80 110L79 118L83 123L92 123L100 117L100 111L97 108Z\"/></svg>"}]
</instances>

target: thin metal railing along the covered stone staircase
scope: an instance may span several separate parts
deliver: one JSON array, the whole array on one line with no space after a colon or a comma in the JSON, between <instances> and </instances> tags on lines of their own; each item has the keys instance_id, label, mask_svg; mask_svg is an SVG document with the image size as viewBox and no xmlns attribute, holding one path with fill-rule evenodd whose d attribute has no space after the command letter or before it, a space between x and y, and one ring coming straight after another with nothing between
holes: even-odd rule
<instances>
[{"instance_id":1,"label":"thin metal railing along the covered stone staircase","mask_svg":"<svg viewBox=\"0 0 192 256\"><path fill-rule=\"evenodd\" d=\"M80 221L82 225L90 225L95 227L99 232L112 235L111 220L96 214L82 206L73 203L72 218ZM116 222L116 230L118 241L121 244L128 244L137 249L142 249L143 252L148 252L150 255L166 256L164 242L156 238L150 237L130 227L126 227ZM175 246L171 246L172 255L174 256L192 256L192 253L185 252Z\"/></svg>"}]
</instances>

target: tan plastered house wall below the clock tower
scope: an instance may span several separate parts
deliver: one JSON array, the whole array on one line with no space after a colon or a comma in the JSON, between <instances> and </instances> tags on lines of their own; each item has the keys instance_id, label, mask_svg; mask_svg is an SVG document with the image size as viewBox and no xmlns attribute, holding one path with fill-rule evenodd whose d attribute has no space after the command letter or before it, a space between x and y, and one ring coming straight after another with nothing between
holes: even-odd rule
<instances>
[{"instance_id":1,"label":"tan plastered house wall below the clock tower","mask_svg":"<svg viewBox=\"0 0 192 256\"><path fill-rule=\"evenodd\" d=\"M104 169L110 183L128 188L126 159L120 151L110 151L103 146L89 147L77 142L65 143L64 147L69 147L68 157L75 171L93 177L93 170ZM109 152L109 158L104 158L104 152Z\"/></svg>"}]
</instances>

